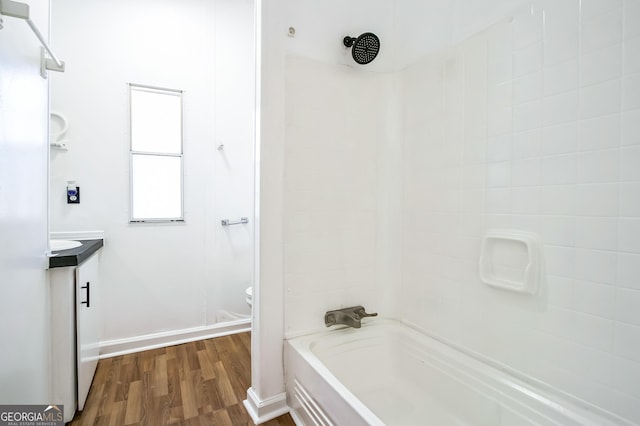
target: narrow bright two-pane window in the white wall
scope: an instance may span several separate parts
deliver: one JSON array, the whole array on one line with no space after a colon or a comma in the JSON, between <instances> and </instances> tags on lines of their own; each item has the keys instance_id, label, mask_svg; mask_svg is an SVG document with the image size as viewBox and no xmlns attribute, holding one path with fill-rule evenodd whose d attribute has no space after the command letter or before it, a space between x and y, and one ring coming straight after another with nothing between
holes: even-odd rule
<instances>
[{"instance_id":1,"label":"narrow bright two-pane window in the white wall","mask_svg":"<svg viewBox=\"0 0 640 426\"><path fill-rule=\"evenodd\" d=\"M130 84L131 221L181 221L182 91Z\"/></svg>"}]
</instances>

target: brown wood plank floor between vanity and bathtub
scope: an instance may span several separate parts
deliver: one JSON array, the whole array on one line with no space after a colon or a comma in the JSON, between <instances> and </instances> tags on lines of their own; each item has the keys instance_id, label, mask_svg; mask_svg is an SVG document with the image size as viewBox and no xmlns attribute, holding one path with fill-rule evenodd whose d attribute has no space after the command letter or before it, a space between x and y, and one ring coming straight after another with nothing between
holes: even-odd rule
<instances>
[{"instance_id":1,"label":"brown wood plank floor between vanity and bathtub","mask_svg":"<svg viewBox=\"0 0 640 426\"><path fill-rule=\"evenodd\" d=\"M79 425L253 425L249 333L100 360ZM295 425L287 414L265 425Z\"/></svg>"}]
</instances>

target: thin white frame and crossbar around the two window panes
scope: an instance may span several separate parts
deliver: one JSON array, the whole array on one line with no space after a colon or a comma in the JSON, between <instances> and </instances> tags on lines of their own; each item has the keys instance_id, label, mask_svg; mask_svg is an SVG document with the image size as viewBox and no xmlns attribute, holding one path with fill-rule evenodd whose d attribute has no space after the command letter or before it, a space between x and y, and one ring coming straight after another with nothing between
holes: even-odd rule
<instances>
[{"instance_id":1,"label":"thin white frame and crossbar around the two window panes","mask_svg":"<svg viewBox=\"0 0 640 426\"><path fill-rule=\"evenodd\" d=\"M180 153L166 153L153 151L133 150L133 123L132 123L132 96L133 90L147 91L151 93L173 95L180 97ZM147 86L143 84L128 84L129 94L129 223L171 223L184 222L184 99L183 91L163 87ZM134 156L162 156L180 158L180 215L175 218L135 218L133 217L133 157Z\"/></svg>"}]
</instances>

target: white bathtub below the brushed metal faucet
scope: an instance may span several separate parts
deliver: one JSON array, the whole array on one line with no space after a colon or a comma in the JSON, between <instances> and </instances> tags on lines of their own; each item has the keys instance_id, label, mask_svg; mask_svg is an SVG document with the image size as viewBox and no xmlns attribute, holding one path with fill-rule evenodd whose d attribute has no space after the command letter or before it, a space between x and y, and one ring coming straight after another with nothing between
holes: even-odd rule
<instances>
[{"instance_id":1,"label":"white bathtub below the brushed metal faucet","mask_svg":"<svg viewBox=\"0 0 640 426\"><path fill-rule=\"evenodd\" d=\"M400 322L372 319L284 348L297 425L630 425Z\"/></svg>"}]
</instances>

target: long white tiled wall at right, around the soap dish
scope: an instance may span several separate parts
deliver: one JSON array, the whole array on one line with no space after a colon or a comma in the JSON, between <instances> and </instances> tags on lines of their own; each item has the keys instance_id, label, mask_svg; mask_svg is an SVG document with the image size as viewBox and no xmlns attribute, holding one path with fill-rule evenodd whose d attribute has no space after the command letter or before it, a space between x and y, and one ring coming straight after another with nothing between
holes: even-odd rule
<instances>
[{"instance_id":1,"label":"long white tiled wall at right, around the soap dish","mask_svg":"<svg viewBox=\"0 0 640 426\"><path fill-rule=\"evenodd\" d=\"M640 422L640 2L549 1L404 72L401 315ZM478 276L539 234L539 294Z\"/></svg>"}]
</instances>

